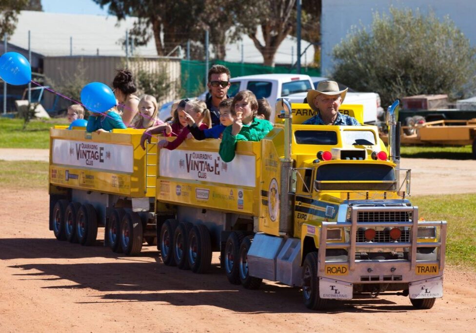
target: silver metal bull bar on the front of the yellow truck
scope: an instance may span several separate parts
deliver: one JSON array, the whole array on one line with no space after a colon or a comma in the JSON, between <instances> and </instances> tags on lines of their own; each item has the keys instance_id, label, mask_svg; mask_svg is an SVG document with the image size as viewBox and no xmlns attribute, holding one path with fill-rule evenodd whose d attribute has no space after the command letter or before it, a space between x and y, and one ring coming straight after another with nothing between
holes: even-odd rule
<instances>
[{"instance_id":1,"label":"silver metal bull bar on the front of the yellow truck","mask_svg":"<svg viewBox=\"0 0 476 333\"><path fill-rule=\"evenodd\" d=\"M408 222L359 222L357 223L358 212L409 212L412 213L412 221ZM349 228L350 237L348 242L327 242L327 229L329 228ZM357 228L359 227L411 227L410 242L357 242ZM437 242L417 242L418 227L439 227ZM326 249L346 249L347 261L329 261L332 264L348 264L352 272L356 268L356 250L359 248L409 248L409 261L411 270L416 268L416 248L437 248L436 263L439 270L443 271L445 266L446 249L446 221L418 221L418 207L351 207L351 222L322 222L319 239L319 272L324 273L326 264ZM401 261L401 260L399 260ZM431 263L430 260L418 260L419 263ZM378 262L376 263L378 265Z\"/></svg>"}]
</instances>

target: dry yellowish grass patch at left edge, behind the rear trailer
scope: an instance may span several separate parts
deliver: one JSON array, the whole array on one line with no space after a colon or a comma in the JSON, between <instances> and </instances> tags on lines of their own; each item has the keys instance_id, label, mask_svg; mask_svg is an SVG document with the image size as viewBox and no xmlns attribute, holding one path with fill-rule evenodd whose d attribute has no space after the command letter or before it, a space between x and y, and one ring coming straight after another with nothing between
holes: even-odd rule
<instances>
[{"instance_id":1,"label":"dry yellowish grass patch at left edge, behind the rear trailer","mask_svg":"<svg viewBox=\"0 0 476 333\"><path fill-rule=\"evenodd\" d=\"M1 161L0 188L48 188L48 162Z\"/></svg>"}]
</instances>

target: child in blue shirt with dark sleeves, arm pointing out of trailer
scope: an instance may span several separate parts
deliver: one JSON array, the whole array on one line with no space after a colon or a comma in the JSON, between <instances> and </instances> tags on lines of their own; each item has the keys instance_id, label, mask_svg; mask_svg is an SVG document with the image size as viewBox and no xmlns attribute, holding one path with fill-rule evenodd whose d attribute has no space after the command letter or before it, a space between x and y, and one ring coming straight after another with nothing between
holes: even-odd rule
<instances>
[{"instance_id":1,"label":"child in blue shirt with dark sleeves, arm pointing out of trailer","mask_svg":"<svg viewBox=\"0 0 476 333\"><path fill-rule=\"evenodd\" d=\"M231 98L227 98L220 102L220 104L218 105L220 111L220 123L217 126L213 126L209 129L199 129L194 119L190 115L187 115L187 127L190 133L192 133L193 137L196 140L221 138L221 134L225 130L226 126L233 124L233 120L235 120L235 110L233 110L233 112L231 110L232 101L233 100Z\"/></svg>"}]
</instances>

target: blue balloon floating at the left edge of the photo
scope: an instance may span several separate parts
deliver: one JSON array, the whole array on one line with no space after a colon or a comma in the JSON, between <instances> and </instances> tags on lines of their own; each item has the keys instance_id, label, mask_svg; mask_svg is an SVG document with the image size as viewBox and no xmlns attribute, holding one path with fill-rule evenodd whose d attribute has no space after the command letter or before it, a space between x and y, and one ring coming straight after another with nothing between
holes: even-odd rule
<instances>
[{"instance_id":1,"label":"blue balloon floating at the left edge of the photo","mask_svg":"<svg viewBox=\"0 0 476 333\"><path fill-rule=\"evenodd\" d=\"M9 84L27 84L31 81L30 63L20 53L4 53L0 57L0 77Z\"/></svg>"}]
</instances>

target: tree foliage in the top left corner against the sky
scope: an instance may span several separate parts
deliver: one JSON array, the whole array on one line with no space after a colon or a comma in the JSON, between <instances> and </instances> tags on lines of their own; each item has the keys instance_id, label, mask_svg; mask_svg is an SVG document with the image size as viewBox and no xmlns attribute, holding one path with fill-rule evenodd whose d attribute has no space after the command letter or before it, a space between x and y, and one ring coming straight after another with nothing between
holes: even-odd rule
<instances>
[{"instance_id":1,"label":"tree foliage in the top left corner against the sky","mask_svg":"<svg viewBox=\"0 0 476 333\"><path fill-rule=\"evenodd\" d=\"M42 11L40 0L1 0L0 1L0 38L5 33L11 36L17 27L20 10Z\"/></svg>"}]
</instances>

